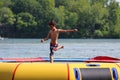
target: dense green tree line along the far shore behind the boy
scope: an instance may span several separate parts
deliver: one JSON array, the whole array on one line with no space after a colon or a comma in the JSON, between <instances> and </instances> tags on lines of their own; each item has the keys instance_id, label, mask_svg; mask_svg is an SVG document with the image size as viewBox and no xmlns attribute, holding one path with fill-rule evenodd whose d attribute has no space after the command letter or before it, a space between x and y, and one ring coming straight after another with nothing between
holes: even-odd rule
<instances>
[{"instance_id":1,"label":"dense green tree line along the far shore behind the boy","mask_svg":"<svg viewBox=\"0 0 120 80\"><path fill-rule=\"evenodd\" d=\"M42 38L48 23L77 28L61 38L120 38L120 4L116 0L0 0L0 35Z\"/></svg>"}]
</instances>

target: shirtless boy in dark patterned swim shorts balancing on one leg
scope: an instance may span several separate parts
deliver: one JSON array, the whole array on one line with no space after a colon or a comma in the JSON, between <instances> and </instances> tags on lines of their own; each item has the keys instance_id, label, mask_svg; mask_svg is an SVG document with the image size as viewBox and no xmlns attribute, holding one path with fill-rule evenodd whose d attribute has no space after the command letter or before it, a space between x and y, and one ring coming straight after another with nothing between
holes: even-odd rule
<instances>
[{"instance_id":1,"label":"shirtless boy in dark patterned swim shorts balancing on one leg","mask_svg":"<svg viewBox=\"0 0 120 80\"><path fill-rule=\"evenodd\" d=\"M58 46L57 40L59 37L59 33L60 32L77 32L78 30L77 29L73 29L73 30L57 29L56 24L53 21L49 23L49 26L50 26L50 31L49 31L47 37L42 39L41 42L44 42L44 41L48 40L49 38L51 39L51 41L50 41L50 62L53 63L54 51L64 48L64 46Z\"/></svg>"}]
</instances>

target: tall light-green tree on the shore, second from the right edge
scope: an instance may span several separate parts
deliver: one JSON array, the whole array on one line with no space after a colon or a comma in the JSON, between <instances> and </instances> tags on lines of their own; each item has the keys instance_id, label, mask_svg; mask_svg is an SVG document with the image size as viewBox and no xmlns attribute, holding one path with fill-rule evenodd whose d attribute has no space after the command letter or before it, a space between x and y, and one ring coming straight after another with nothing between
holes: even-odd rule
<instances>
[{"instance_id":1,"label":"tall light-green tree on the shore, second from the right edge","mask_svg":"<svg viewBox=\"0 0 120 80\"><path fill-rule=\"evenodd\" d=\"M98 29L100 31L104 31L104 27L107 24L106 18L108 17L108 10L101 3L97 2L96 4L92 5L91 13L92 13L91 14L92 19L90 26L90 35L94 36L96 30L97 32ZM102 37L102 36L98 35L98 37Z\"/></svg>"}]
</instances>

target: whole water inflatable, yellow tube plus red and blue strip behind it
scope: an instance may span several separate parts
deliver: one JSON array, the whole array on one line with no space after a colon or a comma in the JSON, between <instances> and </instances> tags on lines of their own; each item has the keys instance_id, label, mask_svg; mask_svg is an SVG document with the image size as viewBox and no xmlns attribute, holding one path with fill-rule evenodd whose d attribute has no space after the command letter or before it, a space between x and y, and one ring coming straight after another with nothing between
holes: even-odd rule
<instances>
[{"instance_id":1,"label":"whole water inflatable, yellow tube plus red and blue strip behind it","mask_svg":"<svg viewBox=\"0 0 120 80\"><path fill-rule=\"evenodd\" d=\"M0 80L120 80L120 59L108 56L55 58L54 63L40 57L0 61Z\"/></svg>"}]
</instances>

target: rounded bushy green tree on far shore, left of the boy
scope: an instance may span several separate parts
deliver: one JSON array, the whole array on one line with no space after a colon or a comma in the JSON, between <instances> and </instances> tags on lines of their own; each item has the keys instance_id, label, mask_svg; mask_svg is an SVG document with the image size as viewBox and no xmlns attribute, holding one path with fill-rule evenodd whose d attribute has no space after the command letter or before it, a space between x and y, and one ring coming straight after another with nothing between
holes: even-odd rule
<instances>
[{"instance_id":1,"label":"rounded bushy green tree on far shore, left of the boy","mask_svg":"<svg viewBox=\"0 0 120 80\"><path fill-rule=\"evenodd\" d=\"M17 15L17 23L16 27L18 29L18 34L21 37L31 37L31 35L35 35L34 33L36 29L37 22L35 18L30 13L19 13Z\"/></svg>"}]
</instances>

